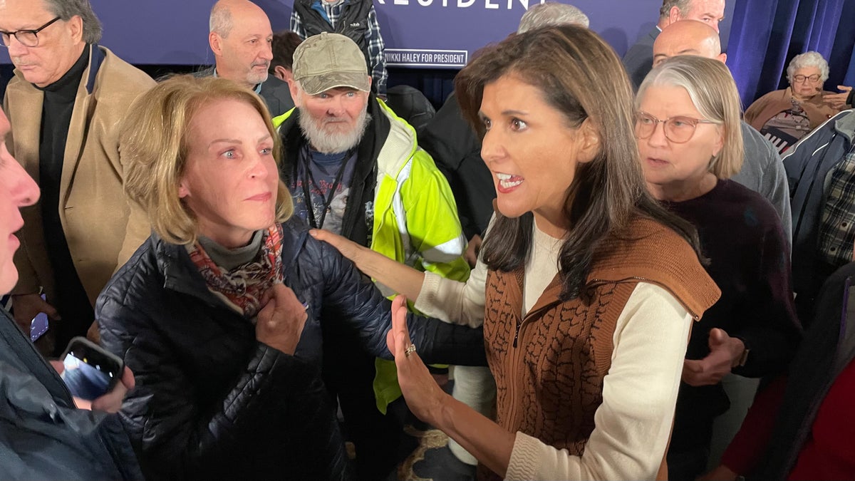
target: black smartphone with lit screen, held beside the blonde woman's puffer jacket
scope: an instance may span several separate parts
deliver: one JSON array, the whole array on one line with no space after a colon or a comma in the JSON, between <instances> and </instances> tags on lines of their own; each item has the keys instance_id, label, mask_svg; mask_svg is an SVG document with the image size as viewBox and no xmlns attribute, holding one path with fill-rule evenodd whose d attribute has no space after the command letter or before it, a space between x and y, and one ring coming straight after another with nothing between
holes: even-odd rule
<instances>
[{"instance_id":1,"label":"black smartphone with lit screen, held beside the blonde woman's puffer jacket","mask_svg":"<svg viewBox=\"0 0 855 481\"><path fill-rule=\"evenodd\" d=\"M62 380L71 394L92 401L121 380L125 363L85 337L74 337L62 354Z\"/></svg>"}]
</instances>

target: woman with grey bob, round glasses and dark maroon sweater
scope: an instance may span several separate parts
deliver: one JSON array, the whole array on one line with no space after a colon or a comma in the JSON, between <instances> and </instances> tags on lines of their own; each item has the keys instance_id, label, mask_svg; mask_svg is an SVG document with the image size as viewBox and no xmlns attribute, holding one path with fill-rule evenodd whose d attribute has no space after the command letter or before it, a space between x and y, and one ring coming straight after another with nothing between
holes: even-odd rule
<instances>
[{"instance_id":1,"label":"woman with grey bob, round glasses and dark maroon sweater","mask_svg":"<svg viewBox=\"0 0 855 481\"><path fill-rule=\"evenodd\" d=\"M740 98L722 62L669 59L647 75L635 104L647 186L698 229L707 273L722 289L693 328L669 448L670 479L694 479L705 470L712 421L728 409L722 377L764 377L793 355L789 252L769 202L727 180L742 164L742 134Z\"/></svg>"}]
</instances>

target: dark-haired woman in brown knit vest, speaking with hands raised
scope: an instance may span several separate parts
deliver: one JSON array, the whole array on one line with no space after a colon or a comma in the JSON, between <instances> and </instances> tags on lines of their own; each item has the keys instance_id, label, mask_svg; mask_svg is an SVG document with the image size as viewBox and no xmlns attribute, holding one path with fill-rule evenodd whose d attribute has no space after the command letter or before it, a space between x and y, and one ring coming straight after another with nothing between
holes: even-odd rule
<instances>
[{"instance_id":1,"label":"dark-haired woman in brown knit vest, speaking with hands raised","mask_svg":"<svg viewBox=\"0 0 855 481\"><path fill-rule=\"evenodd\" d=\"M652 479L693 320L719 291L694 229L647 193L632 88L581 27L487 48L455 80L483 135L498 211L469 281L447 282L315 231L416 309L484 326L497 417L446 395L410 344L387 341L413 413L507 479Z\"/></svg>"}]
</instances>

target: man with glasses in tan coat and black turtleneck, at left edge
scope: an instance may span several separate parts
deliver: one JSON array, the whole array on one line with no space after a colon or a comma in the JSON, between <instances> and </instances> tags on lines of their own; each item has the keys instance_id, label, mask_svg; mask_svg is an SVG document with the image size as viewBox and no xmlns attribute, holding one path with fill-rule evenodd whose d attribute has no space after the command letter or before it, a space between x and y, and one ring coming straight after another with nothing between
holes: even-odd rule
<instances>
[{"instance_id":1,"label":"man with glasses in tan coat and black turtleneck, at left edge","mask_svg":"<svg viewBox=\"0 0 855 481\"><path fill-rule=\"evenodd\" d=\"M88 0L4 0L0 31L15 64L7 145L41 189L21 211L12 309L27 332L38 312L52 318L39 348L56 354L85 335L104 284L150 233L122 187L117 127L154 80L97 45Z\"/></svg>"}]
</instances>

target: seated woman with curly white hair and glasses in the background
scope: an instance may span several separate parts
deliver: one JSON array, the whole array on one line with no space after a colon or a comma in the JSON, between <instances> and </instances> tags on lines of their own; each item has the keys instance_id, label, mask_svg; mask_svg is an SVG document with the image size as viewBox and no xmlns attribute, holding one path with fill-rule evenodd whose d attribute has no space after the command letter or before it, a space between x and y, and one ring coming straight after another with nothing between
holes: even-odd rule
<instances>
[{"instance_id":1,"label":"seated woman with curly white hair and glasses in the background","mask_svg":"<svg viewBox=\"0 0 855 481\"><path fill-rule=\"evenodd\" d=\"M758 98L746 110L746 122L772 141L779 152L787 150L814 128L827 121L844 106L835 104L823 92L828 80L828 62L809 51L793 57L787 67L790 86Z\"/></svg>"}]
</instances>

